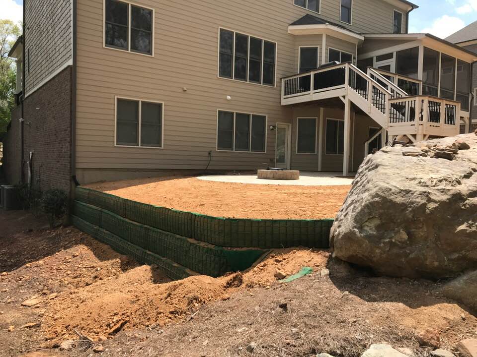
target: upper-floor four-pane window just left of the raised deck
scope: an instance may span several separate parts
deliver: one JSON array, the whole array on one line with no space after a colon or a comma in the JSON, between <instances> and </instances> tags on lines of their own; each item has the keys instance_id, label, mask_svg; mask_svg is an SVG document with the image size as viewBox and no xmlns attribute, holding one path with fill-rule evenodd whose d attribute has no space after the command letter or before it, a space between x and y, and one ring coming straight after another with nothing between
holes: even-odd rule
<instances>
[{"instance_id":1,"label":"upper-floor four-pane window just left of the raised deck","mask_svg":"<svg viewBox=\"0 0 477 357\"><path fill-rule=\"evenodd\" d=\"M224 29L219 42L219 77L275 86L275 43Z\"/></svg>"}]
</instances>

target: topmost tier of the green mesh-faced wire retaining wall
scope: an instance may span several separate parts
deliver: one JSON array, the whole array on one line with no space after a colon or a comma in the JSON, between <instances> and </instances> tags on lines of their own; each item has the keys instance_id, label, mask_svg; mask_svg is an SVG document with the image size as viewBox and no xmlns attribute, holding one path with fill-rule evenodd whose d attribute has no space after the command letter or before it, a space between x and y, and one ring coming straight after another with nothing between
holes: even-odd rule
<instances>
[{"instance_id":1,"label":"topmost tier of the green mesh-faced wire retaining wall","mask_svg":"<svg viewBox=\"0 0 477 357\"><path fill-rule=\"evenodd\" d=\"M329 248L332 219L253 220L218 218L127 200L78 187L76 199L128 220L222 247Z\"/></svg>"}]
</instances>

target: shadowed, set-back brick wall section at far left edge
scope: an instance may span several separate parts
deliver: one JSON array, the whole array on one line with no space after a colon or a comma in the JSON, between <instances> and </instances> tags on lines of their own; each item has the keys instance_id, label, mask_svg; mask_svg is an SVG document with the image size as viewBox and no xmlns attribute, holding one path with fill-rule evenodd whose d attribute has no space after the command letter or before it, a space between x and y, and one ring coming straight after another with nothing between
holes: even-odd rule
<instances>
[{"instance_id":1,"label":"shadowed, set-back brick wall section at far left edge","mask_svg":"<svg viewBox=\"0 0 477 357\"><path fill-rule=\"evenodd\" d=\"M20 121L21 107L11 111L11 123L3 137L2 170L6 182L20 182Z\"/></svg>"}]
</instances>

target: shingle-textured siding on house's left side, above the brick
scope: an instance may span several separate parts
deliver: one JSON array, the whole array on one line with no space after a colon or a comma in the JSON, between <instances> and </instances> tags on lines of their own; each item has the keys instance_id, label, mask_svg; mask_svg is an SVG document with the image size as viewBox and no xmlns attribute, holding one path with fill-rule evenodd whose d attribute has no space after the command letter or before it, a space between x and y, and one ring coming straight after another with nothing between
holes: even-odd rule
<instances>
[{"instance_id":1,"label":"shingle-textured siding on house's left side, above the brick","mask_svg":"<svg viewBox=\"0 0 477 357\"><path fill-rule=\"evenodd\" d=\"M26 1L26 95L72 60L72 0ZM28 60L30 71L28 72Z\"/></svg>"}]
</instances>

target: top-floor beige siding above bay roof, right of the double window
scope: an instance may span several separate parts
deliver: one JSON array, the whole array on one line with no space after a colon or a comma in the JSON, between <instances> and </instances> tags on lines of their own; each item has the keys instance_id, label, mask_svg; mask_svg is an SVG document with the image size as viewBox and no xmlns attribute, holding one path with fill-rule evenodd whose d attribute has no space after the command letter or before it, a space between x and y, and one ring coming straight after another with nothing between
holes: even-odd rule
<instances>
[{"instance_id":1,"label":"top-floor beige siding above bay roof, right of the double window","mask_svg":"<svg viewBox=\"0 0 477 357\"><path fill-rule=\"evenodd\" d=\"M321 0L321 13L317 16L339 22L340 4L340 0ZM359 33L393 33L395 9L403 13L402 29L405 32L405 10L381 0L353 0L351 25L339 23Z\"/></svg>"}]
</instances>

